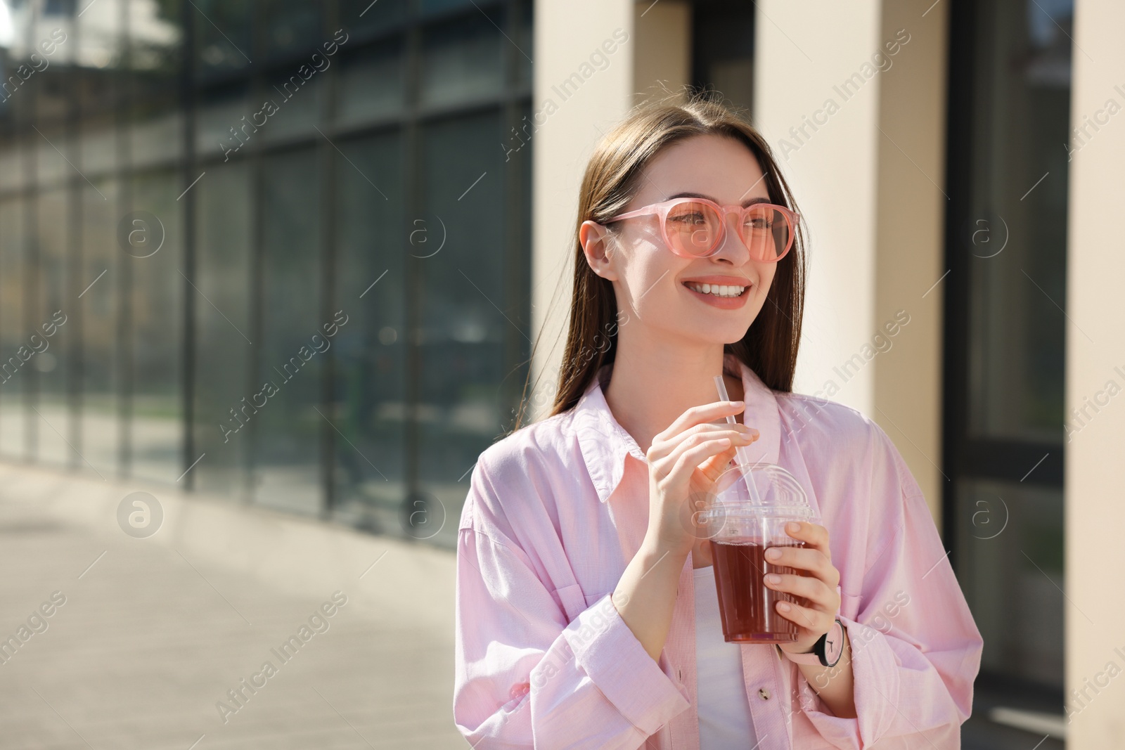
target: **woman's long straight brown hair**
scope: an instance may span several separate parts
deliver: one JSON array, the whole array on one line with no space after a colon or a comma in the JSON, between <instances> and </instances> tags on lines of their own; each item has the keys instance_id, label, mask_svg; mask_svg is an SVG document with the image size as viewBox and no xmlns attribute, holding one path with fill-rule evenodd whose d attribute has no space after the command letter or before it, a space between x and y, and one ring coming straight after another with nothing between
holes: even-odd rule
<instances>
[{"instance_id":1,"label":"woman's long straight brown hair","mask_svg":"<svg viewBox=\"0 0 1125 750\"><path fill-rule=\"evenodd\" d=\"M587 219L605 224L621 213L649 162L666 146L698 135L720 135L745 144L758 160L771 202L798 210L765 138L740 112L711 93L683 91L637 106L598 143L582 180L572 243L575 259L569 333L549 416L574 407L597 370L613 362L618 327L628 323L618 319L612 282L594 273L586 262L578 228ZM608 228L613 231L614 226ZM780 391L793 388L804 307L804 252L803 220L799 220L793 247L777 261L762 310L739 341L723 345L724 354L735 354L766 386ZM520 428L525 413L530 379L529 372L513 431Z\"/></svg>"}]
</instances>

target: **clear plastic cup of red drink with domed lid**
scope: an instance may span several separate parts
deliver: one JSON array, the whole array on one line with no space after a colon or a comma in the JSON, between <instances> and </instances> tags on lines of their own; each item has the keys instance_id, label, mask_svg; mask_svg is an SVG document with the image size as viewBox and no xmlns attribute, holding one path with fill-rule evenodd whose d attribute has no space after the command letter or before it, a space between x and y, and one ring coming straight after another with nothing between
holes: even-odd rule
<instances>
[{"instance_id":1,"label":"clear plastic cup of red drink with domed lid","mask_svg":"<svg viewBox=\"0 0 1125 750\"><path fill-rule=\"evenodd\" d=\"M820 523L820 517L800 482L773 463L732 467L719 478L716 489L713 504L699 512L698 522L711 540L723 639L736 643L795 641L798 625L781 616L777 603L809 603L770 588L764 577L808 573L766 562L764 555L771 546L804 546L785 533L785 524Z\"/></svg>"}]
</instances>

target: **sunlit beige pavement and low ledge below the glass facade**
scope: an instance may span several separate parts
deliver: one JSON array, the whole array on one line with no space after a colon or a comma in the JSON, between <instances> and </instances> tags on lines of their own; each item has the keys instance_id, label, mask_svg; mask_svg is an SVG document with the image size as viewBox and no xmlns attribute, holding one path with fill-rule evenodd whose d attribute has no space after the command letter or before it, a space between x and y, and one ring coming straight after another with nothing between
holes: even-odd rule
<instances>
[{"instance_id":1,"label":"sunlit beige pavement and low ledge below the glass facade","mask_svg":"<svg viewBox=\"0 0 1125 750\"><path fill-rule=\"evenodd\" d=\"M164 513L146 539L117 519L138 490ZM453 562L166 486L0 464L0 748L467 748Z\"/></svg>"}]
</instances>

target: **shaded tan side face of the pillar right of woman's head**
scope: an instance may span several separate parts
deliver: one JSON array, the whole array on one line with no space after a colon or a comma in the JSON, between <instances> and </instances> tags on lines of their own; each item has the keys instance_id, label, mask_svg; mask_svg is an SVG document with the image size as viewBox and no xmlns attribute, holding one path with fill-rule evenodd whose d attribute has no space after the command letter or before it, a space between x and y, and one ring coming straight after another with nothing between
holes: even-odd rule
<instances>
[{"instance_id":1,"label":"shaded tan side face of the pillar right of woman's head","mask_svg":"<svg viewBox=\"0 0 1125 750\"><path fill-rule=\"evenodd\" d=\"M942 528L942 335L948 3L883 2L881 39L910 39L882 78L875 217L876 325L909 316L875 355L870 415L902 453ZM935 286L936 284L936 286ZM901 314L900 314L901 311ZM884 345L885 346L885 345Z\"/></svg>"}]
</instances>

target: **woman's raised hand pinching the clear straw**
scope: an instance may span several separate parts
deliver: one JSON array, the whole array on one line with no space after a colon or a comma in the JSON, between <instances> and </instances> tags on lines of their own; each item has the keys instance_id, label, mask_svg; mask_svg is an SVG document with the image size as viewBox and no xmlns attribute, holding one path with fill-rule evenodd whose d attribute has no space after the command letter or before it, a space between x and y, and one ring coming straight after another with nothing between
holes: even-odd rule
<instances>
[{"instance_id":1,"label":"woman's raised hand pinching the clear straw","mask_svg":"<svg viewBox=\"0 0 1125 750\"><path fill-rule=\"evenodd\" d=\"M714 491L738 446L758 439L740 424L710 424L745 408L742 401L693 406L652 437L649 464L648 536L657 549L686 558L700 537L691 498Z\"/></svg>"}]
</instances>

